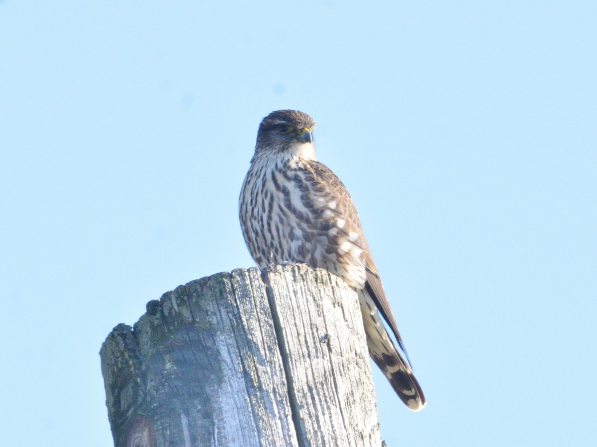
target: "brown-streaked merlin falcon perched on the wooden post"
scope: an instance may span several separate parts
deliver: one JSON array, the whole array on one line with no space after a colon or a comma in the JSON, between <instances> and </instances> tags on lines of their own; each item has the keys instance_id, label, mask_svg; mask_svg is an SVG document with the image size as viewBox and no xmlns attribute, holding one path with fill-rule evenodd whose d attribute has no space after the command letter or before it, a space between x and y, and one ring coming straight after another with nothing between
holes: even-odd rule
<instances>
[{"instance_id":1,"label":"brown-streaked merlin falcon perched on the wooden post","mask_svg":"<svg viewBox=\"0 0 597 447\"><path fill-rule=\"evenodd\" d=\"M339 276L358 293L371 358L402 402L418 411L425 406L423 391L411 371L355 205L340 179L315 159L314 128L313 119L297 110L274 111L261 121L239 198L242 234L260 269L306 263Z\"/></svg>"}]
</instances>

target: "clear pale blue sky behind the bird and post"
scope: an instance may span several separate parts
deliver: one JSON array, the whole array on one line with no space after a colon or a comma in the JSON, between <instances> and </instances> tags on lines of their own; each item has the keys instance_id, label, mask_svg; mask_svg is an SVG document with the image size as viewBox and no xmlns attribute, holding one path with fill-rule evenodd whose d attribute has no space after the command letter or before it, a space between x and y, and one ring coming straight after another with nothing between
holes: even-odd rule
<instances>
[{"instance_id":1,"label":"clear pale blue sky behind the bird and post","mask_svg":"<svg viewBox=\"0 0 597 447\"><path fill-rule=\"evenodd\" d=\"M98 351L254 265L257 126L313 116L427 408L388 446L594 445L595 1L0 0L1 445L112 437Z\"/></svg>"}]
</instances>

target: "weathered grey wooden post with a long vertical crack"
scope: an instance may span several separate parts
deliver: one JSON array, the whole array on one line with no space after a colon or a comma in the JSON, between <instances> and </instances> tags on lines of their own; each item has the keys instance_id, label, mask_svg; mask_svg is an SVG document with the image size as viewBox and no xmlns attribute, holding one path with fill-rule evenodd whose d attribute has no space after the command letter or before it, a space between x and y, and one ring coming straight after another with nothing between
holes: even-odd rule
<instances>
[{"instance_id":1,"label":"weathered grey wooden post with a long vertical crack","mask_svg":"<svg viewBox=\"0 0 597 447\"><path fill-rule=\"evenodd\" d=\"M191 281L100 356L116 447L381 446L358 298L321 269Z\"/></svg>"}]
</instances>

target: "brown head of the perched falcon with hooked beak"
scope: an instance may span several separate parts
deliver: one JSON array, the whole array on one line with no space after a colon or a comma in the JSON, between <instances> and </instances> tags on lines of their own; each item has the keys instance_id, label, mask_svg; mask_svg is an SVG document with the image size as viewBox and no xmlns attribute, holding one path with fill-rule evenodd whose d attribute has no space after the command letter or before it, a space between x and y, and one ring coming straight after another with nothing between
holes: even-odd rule
<instances>
[{"instance_id":1,"label":"brown head of the perched falcon with hooked beak","mask_svg":"<svg viewBox=\"0 0 597 447\"><path fill-rule=\"evenodd\" d=\"M298 110L276 110L259 125L255 156L300 157L315 160L313 119Z\"/></svg>"}]
</instances>

